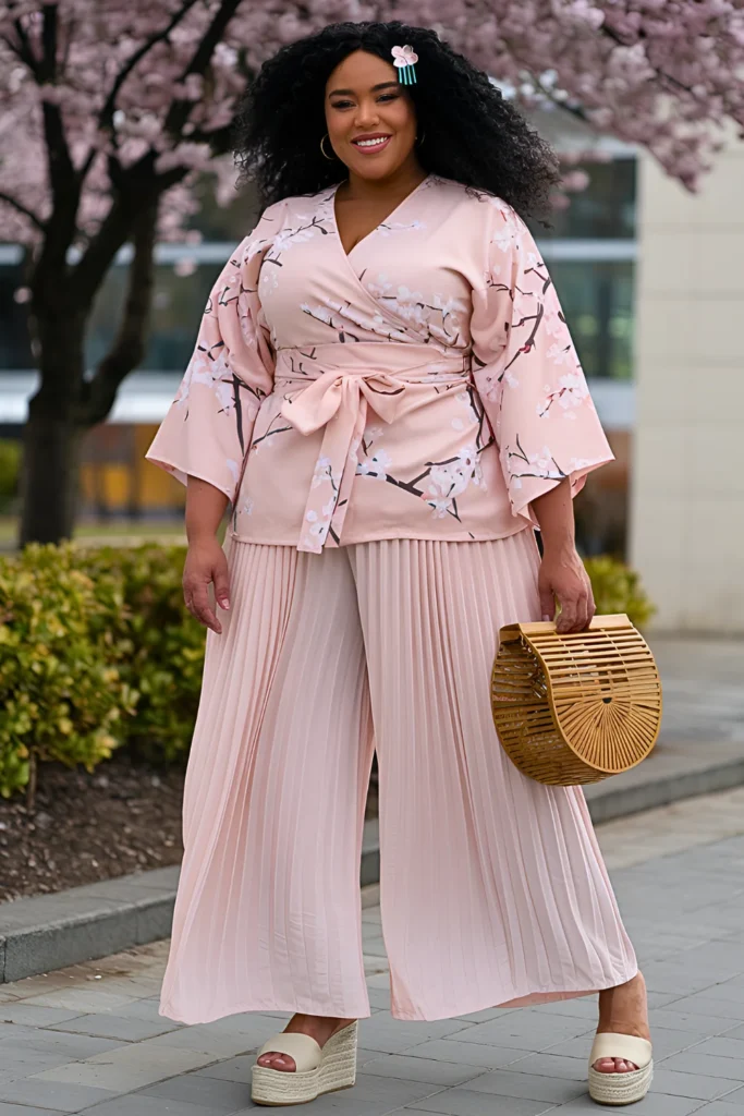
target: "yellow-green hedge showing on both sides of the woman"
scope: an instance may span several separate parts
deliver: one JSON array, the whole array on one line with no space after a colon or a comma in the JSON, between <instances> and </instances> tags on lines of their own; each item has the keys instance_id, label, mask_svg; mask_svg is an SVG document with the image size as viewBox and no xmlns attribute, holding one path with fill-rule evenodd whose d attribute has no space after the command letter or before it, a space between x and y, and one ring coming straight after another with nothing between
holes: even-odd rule
<instances>
[{"instance_id":1,"label":"yellow-green hedge showing on both sides of the woman","mask_svg":"<svg viewBox=\"0 0 744 1116\"><path fill-rule=\"evenodd\" d=\"M93 771L127 747L183 761L196 715L204 629L183 605L185 548L29 546L0 557L0 795L39 762ZM638 577L587 561L599 612L651 614Z\"/></svg>"}]
</instances>

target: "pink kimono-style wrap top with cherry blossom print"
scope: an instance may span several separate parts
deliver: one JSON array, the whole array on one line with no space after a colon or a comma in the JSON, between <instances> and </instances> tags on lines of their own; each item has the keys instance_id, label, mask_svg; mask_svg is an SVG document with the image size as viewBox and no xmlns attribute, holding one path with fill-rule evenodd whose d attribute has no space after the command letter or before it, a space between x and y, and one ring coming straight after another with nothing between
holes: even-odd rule
<instances>
[{"instance_id":1,"label":"pink kimono-style wrap top with cherry blossom print","mask_svg":"<svg viewBox=\"0 0 744 1116\"><path fill-rule=\"evenodd\" d=\"M497 539L612 453L524 222L428 175L347 254L336 189L270 205L216 279L152 446L233 537Z\"/></svg>"}]
</instances>

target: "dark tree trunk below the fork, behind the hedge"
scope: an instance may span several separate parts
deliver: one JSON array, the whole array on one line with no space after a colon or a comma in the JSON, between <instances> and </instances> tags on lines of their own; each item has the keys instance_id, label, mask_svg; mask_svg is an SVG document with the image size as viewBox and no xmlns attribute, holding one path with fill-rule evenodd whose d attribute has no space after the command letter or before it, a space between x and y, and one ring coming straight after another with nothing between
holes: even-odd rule
<instances>
[{"instance_id":1,"label":"dark tree trunk below the fork, behind the hedge","mask_svg":"<svg viewBox=\"0 0 744 1116\"><path fill-rule=\"evenodd\" d=\"M31 400L23 432L20 546L73 538L84 433L69 412L50 407L41 393Z\"/></svg>"}]
</instances>

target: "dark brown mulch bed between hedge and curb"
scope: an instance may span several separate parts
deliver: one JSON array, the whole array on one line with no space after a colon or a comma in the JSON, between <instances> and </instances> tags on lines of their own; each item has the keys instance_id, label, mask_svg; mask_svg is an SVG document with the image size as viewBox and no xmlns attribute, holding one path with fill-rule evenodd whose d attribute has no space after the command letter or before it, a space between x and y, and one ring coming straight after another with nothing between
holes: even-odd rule
<instances>
[{"instance_id":1,"label":"dark brown mulch bed between hedge and curb","mask_svg":"<svg viewBox=\"0 0 744 1116\"><path fill-rule=\"evenodd\" d=\"M0 902L178 864L184 775L125 754L93 775L41 763L33 814L0 799Z\"/></svg>"}]
</instances>

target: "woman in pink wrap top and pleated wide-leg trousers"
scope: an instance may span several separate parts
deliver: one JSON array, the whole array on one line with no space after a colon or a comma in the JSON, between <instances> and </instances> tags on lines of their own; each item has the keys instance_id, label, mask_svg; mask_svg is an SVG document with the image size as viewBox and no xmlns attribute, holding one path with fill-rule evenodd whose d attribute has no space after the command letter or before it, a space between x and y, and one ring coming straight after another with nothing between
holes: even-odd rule
<instances>
[{"instance_id":1,"label":"woman in pink wrap top and pleated wide-leg trousers","mask_svg":"<svg viewBox=\"0 0 744 1116\"><path fill-rule=\"evenodd\" d=\"M519 215L553 156L400 23L283 48L243 121L267 208L148 453L187 479L210 628L161 1012L294 1012L258 1103L354 1083L376 747L393 1014L599 991L591 1094L638 1099L645 984L582 791L522 776L489 700L502 624L595 609L571 496L611 452Z\"/></svg>"}]
</instances>

